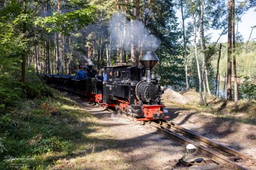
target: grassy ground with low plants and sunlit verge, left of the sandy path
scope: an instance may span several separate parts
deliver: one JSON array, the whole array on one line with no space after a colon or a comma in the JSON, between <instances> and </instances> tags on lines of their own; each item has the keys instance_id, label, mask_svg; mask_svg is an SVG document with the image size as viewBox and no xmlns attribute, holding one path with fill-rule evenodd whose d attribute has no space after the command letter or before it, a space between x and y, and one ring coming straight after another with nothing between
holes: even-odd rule
<instances>
[{"instance_id":1,"label":"grassy ground with low plants and sunlit verge, left of the sandy path","mask_svg":"<svg viewBox=\"0 0 256 170\"><path fill-rule=\"evenodd\" d=\"M0 169L125 168L98 118L53 90L0 114Z\"/></svg>"}]
</instances>

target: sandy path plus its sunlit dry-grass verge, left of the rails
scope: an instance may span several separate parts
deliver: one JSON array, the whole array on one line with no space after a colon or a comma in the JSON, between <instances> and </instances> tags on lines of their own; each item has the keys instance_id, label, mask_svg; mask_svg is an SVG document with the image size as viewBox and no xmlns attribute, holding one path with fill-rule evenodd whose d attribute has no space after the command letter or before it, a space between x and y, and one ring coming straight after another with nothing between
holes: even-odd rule
<instances>
[{"instance_id":1,"label":"sandy path plus its sunlit dry-grass verge, left of the rails","mask_svg":"<svg viewBox=\"0 0 256 170\"><path fill-rule=\"evenodd\" d=\"M75 169L172 169L186 151L183 143L141 122L71 98L97 118L96 130L89 134L94 140L93 151L69 159ZM102 134L104 137L98 138ZM209 159L195 152L185 160L196 158Z\"/></svg>"}]
</instances>

